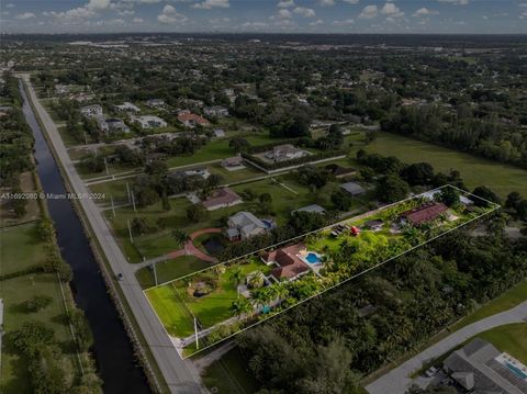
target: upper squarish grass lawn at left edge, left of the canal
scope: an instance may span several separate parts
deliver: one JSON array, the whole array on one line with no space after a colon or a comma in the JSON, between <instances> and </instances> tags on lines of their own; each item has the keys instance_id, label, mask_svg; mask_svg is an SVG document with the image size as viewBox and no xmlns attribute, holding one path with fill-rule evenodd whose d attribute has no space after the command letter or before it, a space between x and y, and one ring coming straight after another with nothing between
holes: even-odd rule
<instances>
[{"instance_id":1,"label":"upper squarish grass lawn at left edge, left of the canal","mask_svg":"<svg viewBox=\"0 0 527 394\"><path fill-rule=\"evenodd\" d=\"M35 223L0 230L0 274L26 269L45 259L45 245L38 238Z\"/></svg>"}]
</instances>

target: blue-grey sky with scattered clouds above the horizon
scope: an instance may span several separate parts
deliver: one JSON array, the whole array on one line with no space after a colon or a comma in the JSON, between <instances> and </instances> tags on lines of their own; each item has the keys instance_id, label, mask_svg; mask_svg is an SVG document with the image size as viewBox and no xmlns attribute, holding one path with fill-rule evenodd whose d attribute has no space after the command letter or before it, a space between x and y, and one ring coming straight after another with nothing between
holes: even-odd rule
<instances>
[{"instance_id":1,"label":"blue-grey sky with scattered clouds above the horizon","mask_svg":"<svg viewBox=\"0 0 527 394\"><path fill-rule=\"evenodd\" d=\"M527 0L0 0L0 32L527 34Z\"/></svg>"}]
</instances>

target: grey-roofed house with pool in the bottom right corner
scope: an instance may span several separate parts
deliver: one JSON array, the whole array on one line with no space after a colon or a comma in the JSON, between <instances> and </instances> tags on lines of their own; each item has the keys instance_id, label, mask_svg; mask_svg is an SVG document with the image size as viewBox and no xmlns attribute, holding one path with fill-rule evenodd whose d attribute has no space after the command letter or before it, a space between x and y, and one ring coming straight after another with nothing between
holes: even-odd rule
<instances>
[{"instance_id":1,"label":"grey-roofed house with pool in the bottom right corner","mask_svg":"<svg viewBox=\"0 0 527 394\"><path fill-rule=\"evenodd\" d=\"M527 393L526 365L480 338L448 356L444 369L461 392Z\"/></svg>"}]
</instances>

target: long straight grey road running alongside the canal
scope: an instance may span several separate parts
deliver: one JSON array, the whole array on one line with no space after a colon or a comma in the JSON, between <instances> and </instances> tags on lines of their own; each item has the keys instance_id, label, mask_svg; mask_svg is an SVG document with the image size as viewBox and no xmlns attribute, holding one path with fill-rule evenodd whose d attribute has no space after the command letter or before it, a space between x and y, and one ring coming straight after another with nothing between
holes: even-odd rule
<instances>
[{"instance_id":1,"label":"long straight grey road running alongside the canal","mask_svg":"<svg viewBox=\"0 0 527 394\"><path fill-rule=\"evenodd\" d=\"M58 159L61 162L69 183L74 188L76 193L88 193L88 189L85 182L77 173L74 164L71 162L66 146L64 145L57 127L53 122L49 114L44 110L38 102L35 91L31 86L29 75L22 75L22 78L26 82L30 92L30 100L33 102L34 108L45 126L46 134L48 135L55 151L58 155ZM100 213L93 200L81 199L79 200L82 210L88 217L88 221L97 236L102 249L110 261L110 266L114 273L122 273L124 280L119 282L126 301L132 308L134 316L146 338L146 341L162 372L162 375L170 387L171 393L205 393L201 384L201 379L198 370L194 368L190 360L181 360L178 351L170 341L165 328L160 324L159 319L155 315L154 311L148 304L146 296L143 293L135 275L132 264L130 264L120 247L113 238L109 225ZM119 357L119 354L115 354Z\"/></svg>"}]
</instances>

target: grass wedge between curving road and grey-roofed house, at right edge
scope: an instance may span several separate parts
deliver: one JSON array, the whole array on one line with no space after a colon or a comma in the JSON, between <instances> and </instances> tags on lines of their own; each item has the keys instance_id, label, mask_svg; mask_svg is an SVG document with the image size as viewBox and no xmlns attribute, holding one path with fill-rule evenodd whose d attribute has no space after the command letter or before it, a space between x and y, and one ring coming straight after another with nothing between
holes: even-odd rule
<instances>
[{"instance_id":1,"label":"grass wedge between curving road and grey-roofed house, at right edge","mask_svg":"<svg viewBox=\"0 0 527 394\"><path fill-rule=\"evenodd\" d=\"M476 335L527 364L527 323L507 324Z\"/></svg>"}]
</instances>

